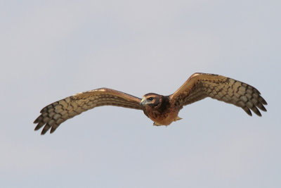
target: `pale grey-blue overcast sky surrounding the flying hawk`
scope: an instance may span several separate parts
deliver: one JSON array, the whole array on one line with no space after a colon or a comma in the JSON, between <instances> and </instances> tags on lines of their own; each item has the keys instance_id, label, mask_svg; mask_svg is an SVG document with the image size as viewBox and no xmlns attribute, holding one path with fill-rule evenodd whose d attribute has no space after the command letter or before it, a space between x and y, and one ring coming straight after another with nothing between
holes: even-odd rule
<instances>
[{"instance_id":1,"label":"pale grey-blue overcast sky surrounding the flying hawk","mask_svg":"<svg viewBox=\"0 0 281 188\"><path fill-rule=\"evenodd\" d=\"M281 187L281 1L1 1L1 187ZM172 94L192 73L247 82L262 117L204 99L152 126L105 106L34 132L44 106L110 87Z\"/></svg>"}]
</instances>

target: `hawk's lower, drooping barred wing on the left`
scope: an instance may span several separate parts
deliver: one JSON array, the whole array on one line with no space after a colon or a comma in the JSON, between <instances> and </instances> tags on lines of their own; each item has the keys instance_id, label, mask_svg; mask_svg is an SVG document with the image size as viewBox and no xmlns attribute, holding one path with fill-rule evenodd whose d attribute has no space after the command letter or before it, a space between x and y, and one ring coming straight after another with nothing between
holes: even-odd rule
<instances>
[{"instance_id":1,"label":"hawk's lower, drooping barred wing on the left","mask_svg":"<svg viewBox=\"0 0 281 188\"><path fill-rule=\"evenodd\" d=\"M110 105L142 110L140 103L141 99L136 96L107 88L74 94L43 108L40 111L41 115L34 120L34 123L38 123L35 130L45 125L41 134L45 134L50 128L52 133L65 120L98 106Z\"/></svg>"}]
</instances>

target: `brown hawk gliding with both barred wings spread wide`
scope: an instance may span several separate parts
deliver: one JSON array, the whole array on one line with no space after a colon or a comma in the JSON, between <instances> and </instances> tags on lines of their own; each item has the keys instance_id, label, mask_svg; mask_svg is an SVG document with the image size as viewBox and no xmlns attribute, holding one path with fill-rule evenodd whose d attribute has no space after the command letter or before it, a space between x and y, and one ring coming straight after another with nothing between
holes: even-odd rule
<instances>
[{"instance_id":1,"label":"brown hawk gliding with both barred wings spread wide","mask_svg":"<svg viewBox=\"0 0 281 188\"><path fill-rule=\"evenodd\" d=\"M253 111L261 116L259 109L266 111L263 106L267 104L266 101L251 85L222 75L194 73L174 94L168 96L149 93L141 99L108 88L93 89L68 96L49 104L40 111L41 115L34 120L37 124L35 130L44 127L41 134L45 134L51 128L52 133L65 120L98 106L121 106L142 110L154 122L153 125L170 125L176 120L181 120L178 112L183 106L208 96L234 104L248 115L251 115Z\"/></svg>"}]
</instances>

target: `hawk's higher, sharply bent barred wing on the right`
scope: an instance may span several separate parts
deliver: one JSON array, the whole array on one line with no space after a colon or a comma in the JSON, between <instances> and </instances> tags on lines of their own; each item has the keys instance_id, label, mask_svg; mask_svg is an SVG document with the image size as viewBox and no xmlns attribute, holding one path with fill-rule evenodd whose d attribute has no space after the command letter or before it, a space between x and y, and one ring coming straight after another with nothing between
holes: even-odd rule
<instances>
[{"instance_id":1,"label":"hawk's higher, sharply bent barred wing on the right","mask_svg":"<svg viewBox=\"0 0 281 188\"><path fill-rule=\"evenodd\" d=\"M209 96L212 99L241 107L249 115L251 111L254 111L256 115L261 116L259 109L266 111L263 105L267 103L260 94L251 85L230 77L195 73L174 94L170 95L170 99L176 107L183 108L185 105Z\"/></svg>"}]
</instances>

